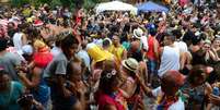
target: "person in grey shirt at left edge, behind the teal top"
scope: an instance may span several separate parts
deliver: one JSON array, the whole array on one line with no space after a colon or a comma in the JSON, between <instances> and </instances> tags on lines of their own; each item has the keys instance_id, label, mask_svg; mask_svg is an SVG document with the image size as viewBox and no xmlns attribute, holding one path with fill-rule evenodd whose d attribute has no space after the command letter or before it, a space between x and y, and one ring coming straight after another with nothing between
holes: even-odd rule
<instances>
[{"instance_id":1,"label":"person in grey shirt at left edge, behind the teal top","mask_svg":"<svg viewBox=\"0 0 220 110\"><path fill-rule=\"evenodd\" d=\"M7 51L5 38L0 38L0 66L2 66L13 81L18 81L16 68L21 65L21 60L14 53Z\"/></svg>"}]
</instances>

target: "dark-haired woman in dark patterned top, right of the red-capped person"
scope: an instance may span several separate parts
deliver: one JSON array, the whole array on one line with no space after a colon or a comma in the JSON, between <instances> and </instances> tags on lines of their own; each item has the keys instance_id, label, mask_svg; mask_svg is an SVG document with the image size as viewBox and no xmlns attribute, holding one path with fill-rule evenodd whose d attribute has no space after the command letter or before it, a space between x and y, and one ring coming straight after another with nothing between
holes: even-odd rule
<instances>
[{"instance_id":1,"label":"dark-haired woman in dark patterned top, right of the red-capped person","mask_svg":"<svg viewBox=\"0 0 220 110\"><path fill-rule=\"evenodd\" d=\"M190 70L182 87L182 91L186 98L187 110L201 110L205 108L206 97L211 93L210 85L206 82L210 72L210 68L200 64L193 66Z\"/></svg>"}]
</instances>

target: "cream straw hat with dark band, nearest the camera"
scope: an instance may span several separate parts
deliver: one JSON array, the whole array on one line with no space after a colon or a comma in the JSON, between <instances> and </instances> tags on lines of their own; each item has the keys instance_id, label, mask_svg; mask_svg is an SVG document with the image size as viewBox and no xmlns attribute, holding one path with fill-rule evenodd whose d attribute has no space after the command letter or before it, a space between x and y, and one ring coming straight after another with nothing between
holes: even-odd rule
<instances>
[{"instance_id":1,"label":"cream straw hat with dark band, nearest the camera","mask_svg":"<svg viewBox=\"0 0 220 110\"><path fill-rule=\"evenodd\" d=\"M127 60L123 60L123 66L131 72L135 72L138 68L138 61L134 58L128 58Z\"/></svg>"}]
</instances>

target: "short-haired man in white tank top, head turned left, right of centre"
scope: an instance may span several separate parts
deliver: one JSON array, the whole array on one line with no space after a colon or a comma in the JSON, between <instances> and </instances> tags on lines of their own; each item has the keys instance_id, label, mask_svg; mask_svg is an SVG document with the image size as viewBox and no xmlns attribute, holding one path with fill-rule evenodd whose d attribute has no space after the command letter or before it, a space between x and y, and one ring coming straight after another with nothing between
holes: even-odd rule
<instances>
[{"instance_id":1,"label":"short-haired man in white tank top, head turned left, right of centre","mask_svg":"<svg viewBox=\"0 0 220 110\"><path fill-rule=\"evenodd\" d=\"M159 76L169 70L178 71L181 69L182 54L177 47L174 46L175 37L171 32L164 34L163 45L160 50L161 63L159 69Z\"/></svg>"}]
</instances>

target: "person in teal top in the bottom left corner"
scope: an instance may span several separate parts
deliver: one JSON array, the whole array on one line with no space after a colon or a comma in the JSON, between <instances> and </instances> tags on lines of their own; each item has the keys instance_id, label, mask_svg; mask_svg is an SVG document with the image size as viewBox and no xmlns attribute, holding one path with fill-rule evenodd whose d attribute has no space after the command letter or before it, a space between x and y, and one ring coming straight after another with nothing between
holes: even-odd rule
<instances>
[{"instance_id":1,"label":"person in teal top in the bottom left corner","mask_svg":"<svg viewBox=\"0 0 220 110\"><path fill-rule=\"evenodd\" d=\"M21 110L16 102L23 94L23 85L19 82L11 81L9 73L3 69L0 70L0 109L1 110Z\"/></svg>"}]
</instances>

